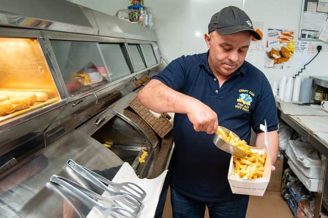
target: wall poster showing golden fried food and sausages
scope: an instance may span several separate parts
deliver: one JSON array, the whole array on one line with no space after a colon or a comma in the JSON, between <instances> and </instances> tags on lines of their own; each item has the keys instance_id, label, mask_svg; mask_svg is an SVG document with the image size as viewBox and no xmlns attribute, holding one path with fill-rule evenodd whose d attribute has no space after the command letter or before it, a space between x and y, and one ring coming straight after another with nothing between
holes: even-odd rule
<instances>
[{"instance_id":1,"label":"wall poster showing golden fried food and sausages","mask_svg":"<svg viewBox=\"0 0 328 218\"><path fill-rule=\"evenodd\" d=\"M273 69L291 68L294 49L294 31L268 29L264 67Z\"/></svg>"}]
</instances>

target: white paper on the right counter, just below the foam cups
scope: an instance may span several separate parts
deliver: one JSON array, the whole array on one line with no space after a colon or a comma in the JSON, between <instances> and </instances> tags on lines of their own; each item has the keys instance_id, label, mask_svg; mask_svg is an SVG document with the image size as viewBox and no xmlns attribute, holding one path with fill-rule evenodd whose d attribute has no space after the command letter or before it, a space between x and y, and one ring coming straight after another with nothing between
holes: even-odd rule
<instances>
[{"instance_id":1,"label":"white paper on the right counter, just below the foam cups","mask_svg":"<svg viewBox=\"0 0 328 218\"><path fill-rule=\"evenodd\" d=\"M297 105L290 102L280 102L280 107L284 114L328 116L328 113L320 110L318 105Z\"/></svg>"}]
</instances>

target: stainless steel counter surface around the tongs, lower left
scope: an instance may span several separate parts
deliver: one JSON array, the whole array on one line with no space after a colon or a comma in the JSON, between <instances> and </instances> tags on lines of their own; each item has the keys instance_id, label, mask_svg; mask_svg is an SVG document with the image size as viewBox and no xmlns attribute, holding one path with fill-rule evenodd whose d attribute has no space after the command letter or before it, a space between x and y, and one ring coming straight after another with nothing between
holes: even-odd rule
<instances>
[{"instance_id":1,"label":"stainless steel counter surface around the tongs, lower left","mask_svg":"<svg viewBox=\"0 0 328 218\"><path fill-rule=\"evenodd\" d=\"M98 171L123 163L98 141L73 130L6 172L0 180L0 216L55 217L65 213L63 198L49 186L49 178L53 174L70 178L64 169L68 159Z\"/></svg>"}]
</instances>

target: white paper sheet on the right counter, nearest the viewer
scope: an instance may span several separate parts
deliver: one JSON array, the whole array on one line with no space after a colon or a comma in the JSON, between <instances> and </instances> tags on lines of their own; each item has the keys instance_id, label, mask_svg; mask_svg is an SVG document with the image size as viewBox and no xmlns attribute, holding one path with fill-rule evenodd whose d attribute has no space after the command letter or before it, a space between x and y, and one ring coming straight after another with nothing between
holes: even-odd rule
<instances>
[{"instance_id":1,"label":"white paper sheet on the right counter, nearest the viewer","mask_svg":"<svg viewBox=\"0 0 328 218\"><path fill-rule=\"evenodd\" d=\"M328 116L291 116L314 134L328 133Z\"/></svg>"}]
</instances>

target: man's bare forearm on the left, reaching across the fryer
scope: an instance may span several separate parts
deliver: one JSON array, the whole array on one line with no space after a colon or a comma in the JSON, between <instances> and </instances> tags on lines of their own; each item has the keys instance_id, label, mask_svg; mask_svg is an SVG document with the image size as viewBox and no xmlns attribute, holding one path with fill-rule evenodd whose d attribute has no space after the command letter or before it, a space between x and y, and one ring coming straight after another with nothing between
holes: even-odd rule
<instances>
[{"instance_id":1,"label":"man's bare forearm on the left, reaching across the fryer","mask_svg":"<svg viewBox=\"0 0 328 218\"><path fill-rule=\"evenodd\" d=\"M142 105L157 112L187 113L193 101L191 96L177 92L158 80L151 80L138 93Z\"/></svg>"}]
</instances>

